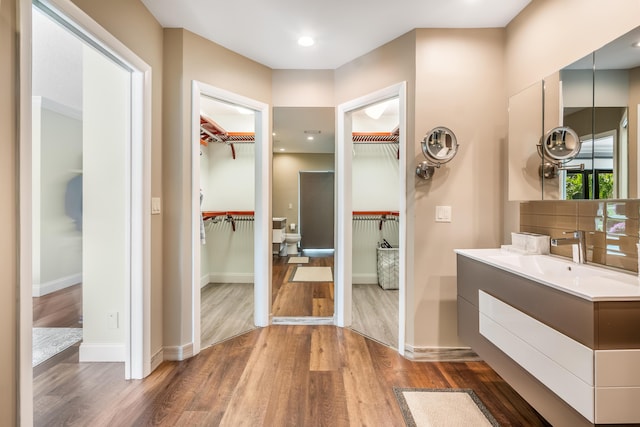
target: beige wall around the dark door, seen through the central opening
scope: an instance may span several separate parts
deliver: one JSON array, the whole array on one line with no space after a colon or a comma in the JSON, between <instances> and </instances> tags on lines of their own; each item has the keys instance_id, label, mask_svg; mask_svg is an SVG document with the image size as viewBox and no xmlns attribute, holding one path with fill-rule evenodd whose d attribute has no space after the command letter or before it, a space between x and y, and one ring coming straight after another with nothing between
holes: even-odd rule
<instances>
[{"instance_id":1,"label":"beige wall around the dark door, seen through the central opening","mask_svg":"<svg viewBox=\"0 0 640 427\"><path fill-rule=\"evenodd\" d=\"M333 154L274 154L273 155L273 216L287 218L298 224L298 172L334 170ZM291 203L291 209L289 209Z\"/></svg>"}]
</instances>

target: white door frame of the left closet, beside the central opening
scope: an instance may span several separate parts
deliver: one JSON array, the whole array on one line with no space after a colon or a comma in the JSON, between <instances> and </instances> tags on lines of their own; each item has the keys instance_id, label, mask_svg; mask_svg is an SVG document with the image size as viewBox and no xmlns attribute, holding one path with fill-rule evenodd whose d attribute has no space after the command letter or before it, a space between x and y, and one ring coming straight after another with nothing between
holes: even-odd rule
<instances>
[{"instance_id":1,"label":"white door frame of the left closet, beside the central opening","mask_svg":"<svg viewBox=\"0 0 640 427\"><path fill-rule=\"evenodd\" d=\"M271 313L271 138L269 105L209 84L191 84L191 245L193 354L200 342L200 95L239 105L255 113L254 323L268 326Z\"/></svg>"}]
</instances>

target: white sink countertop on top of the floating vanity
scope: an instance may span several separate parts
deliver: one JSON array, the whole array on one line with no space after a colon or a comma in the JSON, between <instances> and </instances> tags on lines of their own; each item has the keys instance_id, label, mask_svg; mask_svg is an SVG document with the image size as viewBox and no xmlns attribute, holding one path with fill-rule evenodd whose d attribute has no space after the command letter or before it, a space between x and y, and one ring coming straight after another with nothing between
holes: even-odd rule
<instances>
[{"instance_id":1,"label":"white sink countertop on top of the floating vanity","mask_svg":"<svg viewBox=\"0 0 640 427\"><path fill-rule=\"evenodd\" d=\"M455 249L455 253L589 301L640 301L640 279L594 264L576 264L554 255L506 249Z\"/></svg>"}]
</instances>

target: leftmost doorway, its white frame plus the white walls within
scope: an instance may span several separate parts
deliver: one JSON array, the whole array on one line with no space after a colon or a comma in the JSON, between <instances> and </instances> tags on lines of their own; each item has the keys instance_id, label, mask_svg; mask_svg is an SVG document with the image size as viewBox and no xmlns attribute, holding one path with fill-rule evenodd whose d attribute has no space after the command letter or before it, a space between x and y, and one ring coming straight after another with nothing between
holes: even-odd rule
<instances>
[{"instance_id":1,"label":"leftmost doorway, its white frame plus the white walls within","mask_svg":"<svg viewBox=\"0 0 640 427\"><path fill-rule=\"evenodd\" d=\"M20 74L33 70L33 85L20 85L20 417L30 424L34 297L81 287L66 325L81 329L76 360L122 362L127 379L150 373L151 70L71 2L21 1L20 26ZM74 47L60 53L59 36Z\"/></svg>"}]
</instances>

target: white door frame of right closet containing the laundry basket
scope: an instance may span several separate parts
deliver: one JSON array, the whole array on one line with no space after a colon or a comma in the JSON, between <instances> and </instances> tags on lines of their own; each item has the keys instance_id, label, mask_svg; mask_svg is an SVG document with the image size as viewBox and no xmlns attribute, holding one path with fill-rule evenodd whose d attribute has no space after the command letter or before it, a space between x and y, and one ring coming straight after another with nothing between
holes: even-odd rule
<instances>
[{"instance_id":1,"label":"white door frame of right closet containing the laundry basket","mask_svg":"<svg viewBox=\"0 0 640 427\"><path fill-rule=\"evenodd\" d=\"M337 149L336 149L336 324L341 327L351 325L352 321L352 124L351 114L367 105L398 98L400 128L400 246L399 246L399 318L398 318L398 352L404 355L406 324L406 286L407 286L407 84L401 82L360 98L338 105L336 111Z\"/></svg>"}]
</instances>

